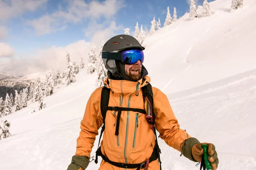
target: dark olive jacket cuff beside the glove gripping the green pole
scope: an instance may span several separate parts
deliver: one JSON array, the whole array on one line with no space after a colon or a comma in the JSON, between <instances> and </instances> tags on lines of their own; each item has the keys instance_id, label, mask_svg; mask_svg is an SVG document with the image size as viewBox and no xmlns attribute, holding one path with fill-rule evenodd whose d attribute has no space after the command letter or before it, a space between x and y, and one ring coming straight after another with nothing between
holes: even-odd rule
<instances>
[{"instance_id":1,"label":"dark olive jacket cuff beside the glove gripping the green pole","mask_svg":"<svg viewBox=\"0 0 256 170\"><path fill-rule=\"evenodd\" d=\"M181 153L181 155L183 154L187 159L189 159L191 161L198 162L198 161L196 161L193 158L191 151L192 151L192 147L195 144L199 144L199 143L201 143L201 142L199 142L198 139L195 139L195 138L186 139L184 141L184 145L182 146L182 153Z\"/></svg>"}]
</instances>

